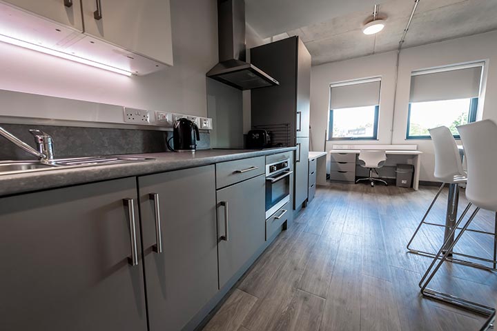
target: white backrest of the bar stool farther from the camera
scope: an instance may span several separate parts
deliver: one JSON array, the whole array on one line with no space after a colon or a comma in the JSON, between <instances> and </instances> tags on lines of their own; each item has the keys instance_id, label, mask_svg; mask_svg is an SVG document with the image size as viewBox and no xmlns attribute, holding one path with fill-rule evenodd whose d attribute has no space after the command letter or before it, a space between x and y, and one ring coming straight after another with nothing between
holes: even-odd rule
<instances>
[{"instance_id":1,"label":"white backrest of the bar stool farther from the camera","mask_svg":"<svg viewBox=\"0 0 497 331\"><path fill-rule=\"evenodd\" d=\"M452 132L447 126L428 130L435 147L434 176L443 183L453 183L454 176L466 176Z\"/></svg>"}]
</instances>

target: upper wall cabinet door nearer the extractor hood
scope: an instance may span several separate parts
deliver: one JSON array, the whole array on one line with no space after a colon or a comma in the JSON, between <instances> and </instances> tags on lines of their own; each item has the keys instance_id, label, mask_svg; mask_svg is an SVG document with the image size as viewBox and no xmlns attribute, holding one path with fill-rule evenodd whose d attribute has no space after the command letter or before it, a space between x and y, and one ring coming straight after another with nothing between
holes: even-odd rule
<instances>
[{"instance_id":1,"label":"upper wall cabinet door nearer the extractor hood","mask_svg":"<svg viewBox=\"0 0 497 331\"><path fill-rule=\"evenodd\" d=\"M82 0L85 33L173 66L169 0Z\"/></svg>"}]
</instances>

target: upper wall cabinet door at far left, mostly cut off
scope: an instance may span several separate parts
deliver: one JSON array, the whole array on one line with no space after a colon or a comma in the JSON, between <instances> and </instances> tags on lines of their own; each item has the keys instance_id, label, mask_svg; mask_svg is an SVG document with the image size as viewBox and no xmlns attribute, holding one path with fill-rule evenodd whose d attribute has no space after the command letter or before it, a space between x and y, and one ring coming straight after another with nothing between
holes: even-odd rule
<instances>
[{"instance_id":1,"label":"upper wall cabinet door at far left, mostly cut off","mask_svg":"<svg viewBox=\"0 0 497 331\"><path fill-rule=\"evenodd\" d=\"M83 31L81 0L4 0L28 12L33 12L65 26Z\"/></svg>"}]
</instances>

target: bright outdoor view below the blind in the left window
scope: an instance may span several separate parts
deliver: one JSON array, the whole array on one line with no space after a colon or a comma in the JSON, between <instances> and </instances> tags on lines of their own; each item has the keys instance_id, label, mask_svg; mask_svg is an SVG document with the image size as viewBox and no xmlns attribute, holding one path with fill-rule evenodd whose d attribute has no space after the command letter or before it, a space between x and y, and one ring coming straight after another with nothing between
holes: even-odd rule
<instances>
[{"instance_id":1,"label":"bright outdoor view below the blind in the left window","mask_svg":"<svg viewBox=\"0 0 497 331\"><path fill-rule=\"evenodd\" d=\"M333 109L330 112L332 138L374 139L377 106Z\"/></svg>"}]
</instances>

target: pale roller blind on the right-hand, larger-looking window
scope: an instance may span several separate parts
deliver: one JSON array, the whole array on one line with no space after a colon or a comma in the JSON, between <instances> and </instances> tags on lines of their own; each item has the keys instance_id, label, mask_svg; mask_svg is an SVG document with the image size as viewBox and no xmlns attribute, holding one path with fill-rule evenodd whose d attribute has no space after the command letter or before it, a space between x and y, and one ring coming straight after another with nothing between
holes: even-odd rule
<instances>
[{"instance_id":1,"label":"pale roller blind on the right-hand, larger-looking window","mask_svg":"<svg viewBox=\"0 0 497 331\"><path fill-rule=\"evenodd\" d=\"M476 66L442 72L413 73L409 101L424 102L478 97L482 68L482 66Z\"/></svg>"}]
</instances>

